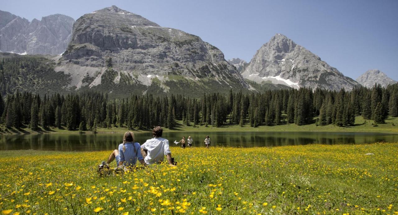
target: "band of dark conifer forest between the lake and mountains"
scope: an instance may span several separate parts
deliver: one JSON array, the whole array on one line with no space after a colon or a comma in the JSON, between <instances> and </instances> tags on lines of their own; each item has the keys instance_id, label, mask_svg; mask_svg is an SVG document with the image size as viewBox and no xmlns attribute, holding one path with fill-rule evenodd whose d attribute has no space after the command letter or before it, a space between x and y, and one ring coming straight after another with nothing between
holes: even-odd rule
<instances>
[{"instance_id":1,"label":"band of dark conifer forest between the lake and mountains","mask_svg":"<svg viewBox=\"0 0 398 215\"><path fill-rule=\"evenodd\" d=\"M40 96L29 92L0 95L1 123L7 127L29 126L32 130L64 126L68 130L125 127L150 129L160 125L173 129L176 120L186 125L220 127L273 126L279 124L352 126L355 116L384 123L398 116L398 84L386 89L375 85L352 91L280 89L264 93L205 94L155 97L132 95L108 99L92 91ZM316 118L318 117L318 118ZM315 120L314 120L315 119Z\"/></svg>"}]
</instances>

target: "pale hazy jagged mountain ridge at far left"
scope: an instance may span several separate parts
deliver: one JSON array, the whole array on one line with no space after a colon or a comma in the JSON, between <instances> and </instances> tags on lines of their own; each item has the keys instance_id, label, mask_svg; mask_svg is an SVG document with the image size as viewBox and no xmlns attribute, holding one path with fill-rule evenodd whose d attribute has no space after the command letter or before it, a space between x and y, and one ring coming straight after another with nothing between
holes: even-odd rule
<instances>
[{"instance_id":1,"label":"pale hazy jagged mountain ridge at far left","mask_svg":"<svg viewBox=\"0 0 398 215\"><path fill-rule=\"evenodd\" d=\"M54 14L29 22L0 11L0 51L17 54L61 54L72 34L72 17Z\"/></svg>"}]
</instances>

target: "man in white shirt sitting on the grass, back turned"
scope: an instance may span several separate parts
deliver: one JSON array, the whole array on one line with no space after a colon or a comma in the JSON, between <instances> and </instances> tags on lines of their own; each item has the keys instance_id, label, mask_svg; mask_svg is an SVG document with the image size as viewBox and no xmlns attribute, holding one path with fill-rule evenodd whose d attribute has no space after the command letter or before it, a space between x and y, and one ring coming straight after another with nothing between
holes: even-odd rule
<instances>
[{"instance_id":1,"label":"man in white shirt sitting on the grass, back turned","mask_svg":"<svg viewBox=\"0 0 398 215\"><path fill-rule=\"evenodd\" d=\"M142 157L147 165L151 165L154 163L161 163L164 159L164 155L166 155L169 165L174 167L169 141L162 138L162 134L163 129L160 126L156 126L152 130L154 138L148 139L141 145Z\"/></svg>"}]
</instances>

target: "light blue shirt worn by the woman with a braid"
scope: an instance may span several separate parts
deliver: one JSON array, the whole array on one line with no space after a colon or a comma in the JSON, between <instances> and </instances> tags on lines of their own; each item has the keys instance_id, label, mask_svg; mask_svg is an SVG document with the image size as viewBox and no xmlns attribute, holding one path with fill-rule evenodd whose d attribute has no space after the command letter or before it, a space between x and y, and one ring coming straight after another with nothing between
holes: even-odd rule
<instances>
[{"instance_id":1,"label":"light blue shirt worn by the woman with a braid","mask_svg":"<svg viewBox=\"0 0 398 215\"><path fill-rule=\"evenodd\" d=\"M123 143L119 145L120 160L125 166L134 166L138 160L142 160L140 143L125 143L126 150L123 151Z\"/></svg>"}]
</instances>

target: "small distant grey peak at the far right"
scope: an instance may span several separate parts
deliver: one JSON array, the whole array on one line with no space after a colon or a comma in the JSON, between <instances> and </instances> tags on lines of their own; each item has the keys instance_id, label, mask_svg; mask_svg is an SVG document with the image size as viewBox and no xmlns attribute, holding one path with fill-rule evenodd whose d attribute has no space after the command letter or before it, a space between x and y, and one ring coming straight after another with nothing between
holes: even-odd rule
<instances>
[{"instance_id":1,"label":"small distant grey peak at the far right","mask_svg":"<svg viewBox=\"0 0 398 215\"><path fill-rule=\"evenodd\" d=\"M364 87L373 87L375 83L382 87L387 87L390 84L397 83L380 70L368 70L357 78L358 83Z\"/></svg>"}]
</instances>

